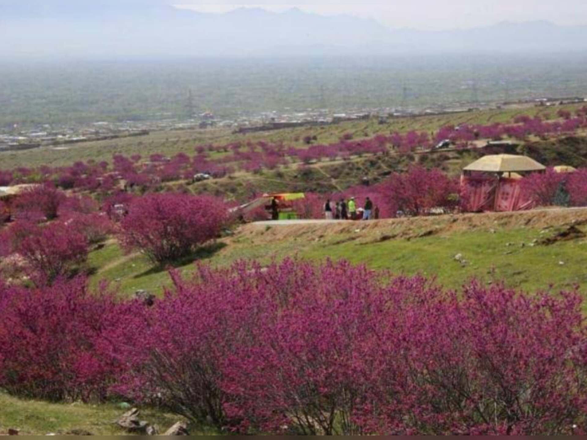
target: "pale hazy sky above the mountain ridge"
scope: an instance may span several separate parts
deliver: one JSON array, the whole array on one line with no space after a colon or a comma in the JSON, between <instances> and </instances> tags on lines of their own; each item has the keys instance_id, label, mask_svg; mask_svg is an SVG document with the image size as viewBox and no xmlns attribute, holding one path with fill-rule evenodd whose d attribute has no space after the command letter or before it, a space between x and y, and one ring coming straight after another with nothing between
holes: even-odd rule
<instances>
[{"instance_id":1,"label":"pale hazy sky above the mountain ridge","mask_svg":"<svg viewBox=\"0 0 587 440\"><path fill-rule=\"evenodd\" d=\"M234 2L234 0L231 0ZM182 5L205 12L226 12L241 6L272 11L298 7L325 15L349 13L373 17L392 28L454 29L501 21L548 20L561 25L587 25L587 0L387 0L382 4L228 4L191 2Z\"/></svg>"}]
</instances>

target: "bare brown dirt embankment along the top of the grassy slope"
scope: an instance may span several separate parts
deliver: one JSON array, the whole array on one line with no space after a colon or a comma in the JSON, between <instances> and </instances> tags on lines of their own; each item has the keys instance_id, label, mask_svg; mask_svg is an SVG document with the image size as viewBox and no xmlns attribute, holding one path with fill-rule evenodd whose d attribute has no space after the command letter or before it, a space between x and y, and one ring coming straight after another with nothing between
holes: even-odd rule
<instances>
[{"instance_id":1,"label":"bare brown dirt embankment along the top of the grassy slope","mask_svg":"<svg viewBox=\"0 0 587 440\"><path fill-rule=\"evenodd\" d=\"M262 244L294 238L310 241L338 235L343 237L360 232L363 239L373 238L384 241L386 239L416 239L456 232L568 228L580 225L587 225L587 208L443 215L370 222L313 222L293 225L249 224L242 226L234 239L249 239L254 243Z\"/></svg>"}]
</instances>

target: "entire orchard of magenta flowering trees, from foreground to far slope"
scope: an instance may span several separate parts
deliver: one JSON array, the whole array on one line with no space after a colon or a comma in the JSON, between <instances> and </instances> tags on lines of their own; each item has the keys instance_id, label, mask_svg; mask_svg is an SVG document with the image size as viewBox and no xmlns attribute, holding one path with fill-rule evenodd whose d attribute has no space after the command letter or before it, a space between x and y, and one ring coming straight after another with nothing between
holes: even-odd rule
<instances>
[{"instance_id":1,"label":"entire orchard of magenta flowering trees, from foreground to far slope","mask_svg":"<svg viewBox=\"0 0 587 440\"><path fill-rule=\"evenodd\" d=\"M446 138L467 145L571 133L585 127L587 108L558 116L444 127L434 138L412 131L332 145L312 137L305 149L200 145L194 157L116 155L112 164L2 171L0 185L41 184L0 202L0 389L156 404L235 434L585 434L587 326L577 292L528 295L474 281L451 292L423 277L286 259L201 265L187 278L172 271L173 287L146 304L104 285L92 292L85 276L90 249L111 236L164 265L230 224L224 201L156 192L163 182L390 148L408 154ZM587 206L585 169L547 170L520 185L538 205ZM444 172L411 167L376 185L306 194L295 209L321 218L326 198L355 197L362 207L370 197L382 218L429 215L458 209L458 192ZM13 221L4 224L8 208Z\"/></svg>"}]
</instances>

